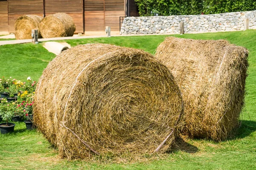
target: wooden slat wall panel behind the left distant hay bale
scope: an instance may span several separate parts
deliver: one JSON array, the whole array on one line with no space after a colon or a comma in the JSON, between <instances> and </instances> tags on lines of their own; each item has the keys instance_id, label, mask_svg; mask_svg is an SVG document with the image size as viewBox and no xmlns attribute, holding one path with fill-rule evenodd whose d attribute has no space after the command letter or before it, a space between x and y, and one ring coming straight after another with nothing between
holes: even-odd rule
<instances>
[{"instance_id":1,"label":"wooden slat wall panel behind the left distant hay bale","mask_svg":"<svg viewBox=\"0 0 256 170\"><path fill-rule=\"evenodd\" d=\"M14 24L18 17L24 14L44 16L43 0L8 0L9 32L14 33Z\"/></svg>"}]
</instances>

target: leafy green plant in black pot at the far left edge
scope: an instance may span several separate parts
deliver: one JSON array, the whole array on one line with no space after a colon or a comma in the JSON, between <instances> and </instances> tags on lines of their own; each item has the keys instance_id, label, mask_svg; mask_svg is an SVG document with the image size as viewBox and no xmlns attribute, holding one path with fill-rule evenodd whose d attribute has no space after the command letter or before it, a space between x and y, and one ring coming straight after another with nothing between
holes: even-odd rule
<instances>
[{"instance_id":1,"label":"leafy green plant in black pot at the far left edge","mask_svg":"<svg viewBox=\"0 0 256 170\"><path fill-rule=\"evenodd\" d=\"M5 134L14 131L15 124L10 123L14 115L15 105L9 104L6 99L1 99L0 103L0 116L2 117L4 123L0 123L0 133Z\"/></svg>"}]
</instances>

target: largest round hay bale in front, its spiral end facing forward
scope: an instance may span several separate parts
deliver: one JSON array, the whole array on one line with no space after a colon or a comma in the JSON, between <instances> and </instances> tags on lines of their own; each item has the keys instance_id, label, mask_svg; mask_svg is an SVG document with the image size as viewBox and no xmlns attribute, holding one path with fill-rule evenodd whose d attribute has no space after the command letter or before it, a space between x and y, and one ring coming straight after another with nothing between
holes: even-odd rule
<instances>
[{"instance_id":1,"label":"largest round hay bale in front, its spiral end facing forward","mask_svg":"<svg viewBox=\"0 0 256 170\"><path fill-rule=\"evenodd\" d=\"M183 111L166 66L142 50L107 44L59 54L44 70L34 99L35 124L68 158L165 152Z\"/></svg>"}]
</instances>

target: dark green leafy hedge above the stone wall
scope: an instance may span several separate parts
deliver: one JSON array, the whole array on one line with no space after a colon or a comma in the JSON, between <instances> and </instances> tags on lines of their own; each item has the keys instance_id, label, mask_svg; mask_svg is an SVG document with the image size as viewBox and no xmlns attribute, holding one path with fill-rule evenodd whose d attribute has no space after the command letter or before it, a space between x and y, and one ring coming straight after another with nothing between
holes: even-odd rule
<instances>
[{"instance_id":1,"label":"dark green leafy hedge above the stone wall","mask_svg":"<svg viewBox=\"0 0 256 170\"><path fill-rule=\"evenodd\" d=\"M219 14L256 10L256 0L135 0L140 16Z\"/></svg>"}]
</instances>

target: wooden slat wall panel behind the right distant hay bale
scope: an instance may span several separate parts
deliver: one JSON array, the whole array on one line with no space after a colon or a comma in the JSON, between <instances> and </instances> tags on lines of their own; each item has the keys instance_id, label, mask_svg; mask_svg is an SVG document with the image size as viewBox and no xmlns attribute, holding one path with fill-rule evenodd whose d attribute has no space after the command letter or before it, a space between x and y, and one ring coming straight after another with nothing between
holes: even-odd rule
<instances>
[{"instance_id":1,"label":"wooden slat wall panel behind the right distant hay bale","mask_svg":"<svg viewBox=\"0 0 256 170\"><path fill-rule=\"evenodd\" d=\"M64 12L70 15L76 24L75 33L84 32L83 0L45 0L45 15Z\"/></svg>"}]
</instances>

